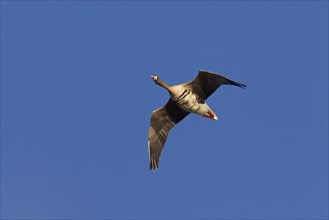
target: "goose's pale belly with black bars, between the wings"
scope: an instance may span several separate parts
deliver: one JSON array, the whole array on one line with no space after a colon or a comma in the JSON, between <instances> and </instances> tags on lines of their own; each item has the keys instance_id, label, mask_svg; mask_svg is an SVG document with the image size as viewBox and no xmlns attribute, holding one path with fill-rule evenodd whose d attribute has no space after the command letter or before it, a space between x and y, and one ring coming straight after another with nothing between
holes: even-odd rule
<instances>
[{"instance_id":1,"label":"goose's pale belly with black bars, between the wings","mask_svg":"<svg viewBox=\"0 0 329 220\"><path fill-rule=\"evenodd\" d=\"M176 104L187 112L192 112L198 115L207 114L209 106L198 95L191 92L186 95L179 94L178 99L174 100Z\"/></svg>"}]
</instances>

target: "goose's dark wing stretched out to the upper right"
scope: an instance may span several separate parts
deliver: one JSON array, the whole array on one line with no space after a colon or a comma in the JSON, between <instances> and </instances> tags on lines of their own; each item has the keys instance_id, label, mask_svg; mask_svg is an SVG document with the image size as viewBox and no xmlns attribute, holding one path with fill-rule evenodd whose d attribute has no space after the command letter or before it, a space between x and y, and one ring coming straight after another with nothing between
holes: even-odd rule
<instances>
[{"instance_id":1,"label":"goose's dark wing stretched out to the upper right","mask_svg":"<svg viewBox=\"0 0 329 220\"><path fill-rule=\"evenodd\" d=\"M247 87L242 83L234 82L224 76L205 70L200 70L198 76L194 80L186 83L186 86L190 87L194 93L198 94L204 100L213 94L221 85L234 85L240 88Z\"/></svg>"}]
</instances>

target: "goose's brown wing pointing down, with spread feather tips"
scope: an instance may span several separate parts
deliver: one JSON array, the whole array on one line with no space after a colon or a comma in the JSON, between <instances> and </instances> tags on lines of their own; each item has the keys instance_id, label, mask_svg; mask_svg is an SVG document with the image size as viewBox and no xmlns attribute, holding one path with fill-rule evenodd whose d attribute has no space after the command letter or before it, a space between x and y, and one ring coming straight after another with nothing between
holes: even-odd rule
<instances>
[{"instance_id":1,"label":"goose's brown wing pointing down, with spread feather tips","mask_svg":"<svg viewBox=\"0 0 329 220\"><path fill-rule=\"evenodd\" d=\"M161 151L165 145L170 129L183 120L188 114L189 112L178 107L171 99L169 99L166 105L152 112L148 136L151 170L156 170L159 167Z\"/></svg>"}]
</instances>

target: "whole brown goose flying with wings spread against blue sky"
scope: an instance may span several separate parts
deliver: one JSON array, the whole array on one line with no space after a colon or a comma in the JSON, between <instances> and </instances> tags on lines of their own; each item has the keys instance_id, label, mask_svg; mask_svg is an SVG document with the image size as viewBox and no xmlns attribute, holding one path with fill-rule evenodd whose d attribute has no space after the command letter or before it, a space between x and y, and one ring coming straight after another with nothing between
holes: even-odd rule
<instances>
[{"instance_id":1,"label":"whole brown goose flying with wings spread against blue sky","mask_svg":"<svg viewBox=\"0 0 329 220\"><path fill-rule=\"evenodd\" d=\"M216 73L200 70L197 77L188 83L169 86L160 77L151 75L153 81L165 88L170 95L169 101L152 112L148 134L148 153L150 170L159 168L161 151L170 129L188 114L195 113L205 118L218 120L217 115L207 105L206 99L221 85L234 85L240 88L244 84L234 82Z\"/></svg>"}]
</instances>

